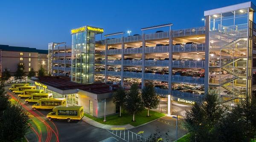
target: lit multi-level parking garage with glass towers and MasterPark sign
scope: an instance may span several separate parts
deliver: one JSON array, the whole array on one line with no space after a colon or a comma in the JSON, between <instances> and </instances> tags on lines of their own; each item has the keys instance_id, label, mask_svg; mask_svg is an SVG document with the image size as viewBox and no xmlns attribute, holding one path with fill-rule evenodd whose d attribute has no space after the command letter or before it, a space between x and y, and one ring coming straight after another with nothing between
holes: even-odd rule
<instances>
[{"instance_id":1,"label":"lit multi-level parking garage with glass towers and MasterPark sign","mask_svg":"<svg viewBox=\"0 0 256 142\"><path fill-rule=\"evenodd\" d=\"M254 9L251 2L217 8L204 11L203 27L171 30L172 24L158 25L141 28L142 34L133 36L108 34L98 42L95 35L102 28L74 29L72 81L125 87L153 81L159 95L171 94L174 100L200 100L208 89L215 89L224 102L239 101L251 95L254 84ZM166 31L159 31L164 27ZM58 47L52 56L67 51ZM59 60L58 56L52 61L52 73L58 75L63 66Z\"/></svg>"}]
</instances>

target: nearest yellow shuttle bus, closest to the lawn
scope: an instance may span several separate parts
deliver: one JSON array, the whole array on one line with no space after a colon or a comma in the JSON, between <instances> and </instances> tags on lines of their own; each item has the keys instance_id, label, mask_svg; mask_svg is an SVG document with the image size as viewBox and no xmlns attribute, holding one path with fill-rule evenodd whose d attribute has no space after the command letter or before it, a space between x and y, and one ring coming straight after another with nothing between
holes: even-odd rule
<instances>
[{"instance_id":1,"label":"nearest yellow shuttle bus, closest to the lawn","mask_svg":"<svg viewBox=\"0 0 256 142\"><path fill-rule=\"evenodd\" d=\"M47 114L48 120L61 119L71 122L71 120L81 120L84 117L83 106L56 106L52 112Z\"/></svg>"}]
</instances>

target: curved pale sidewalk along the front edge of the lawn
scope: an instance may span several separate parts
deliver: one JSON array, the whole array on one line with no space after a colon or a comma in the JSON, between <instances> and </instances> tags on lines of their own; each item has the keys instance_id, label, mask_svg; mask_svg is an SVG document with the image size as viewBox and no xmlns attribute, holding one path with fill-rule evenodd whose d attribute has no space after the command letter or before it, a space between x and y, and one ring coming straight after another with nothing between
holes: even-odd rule
<instances>
[{"instance_id":1,"label":"curved pale sidewalk along the front edge of the lawn","mask_svg":"<svg viewBox=\"0 0 256 142\"><path fill-rule=\"evenodd\" d=\"M82 121L84 121L85 123L88 123L94 127L97 128L102 128L102 129L107 129L107 130L129 130L132 128L135 128L134 126L127 124L127 125L107 125L107 124L102 124L102 123L98 123L97 121L94 121L86 116L84 116L82 118Z\"/></svg>"}]
</instances>

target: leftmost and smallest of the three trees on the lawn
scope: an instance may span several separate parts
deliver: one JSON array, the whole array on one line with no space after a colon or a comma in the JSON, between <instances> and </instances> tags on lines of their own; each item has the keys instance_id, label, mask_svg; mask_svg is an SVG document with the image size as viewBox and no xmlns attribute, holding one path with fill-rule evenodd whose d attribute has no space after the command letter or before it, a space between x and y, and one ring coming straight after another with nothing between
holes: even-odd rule
<instances>
[{"instance_id":1,"label":"leftmost and smallest of the three trees on the lawn","mask_svg":"<svg viewBox=\"0 0 256 142\"><path fill-rule=\"evenodd\" d=\"M124 106L125 104L125 97L126 97L126 93L122 87L119 87L114 93L113 103L115 103L116 106L120 107L120 115L119 115L120 117L121 117L122 106Z\"/></svg>"}]
</instances>

